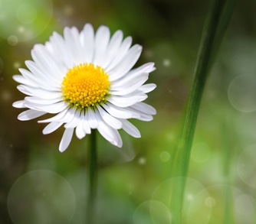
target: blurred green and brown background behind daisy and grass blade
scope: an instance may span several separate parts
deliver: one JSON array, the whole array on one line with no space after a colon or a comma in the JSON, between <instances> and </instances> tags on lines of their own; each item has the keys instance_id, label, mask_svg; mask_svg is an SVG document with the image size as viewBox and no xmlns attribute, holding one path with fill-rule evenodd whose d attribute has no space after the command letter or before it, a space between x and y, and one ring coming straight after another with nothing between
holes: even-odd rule
<instances>
[{"instance_id":1,"label":"blurred green and brown background behind daisy and grass blade","mask_svg":"<svg viewBox=\"0 0 256 224\"><path fill-rule=\"evenodd\" d=\"M171 188L187 178L184 223L256 222L256 2L238 1L209 76L193 141L188 177L171 177L185 102L209 1L0 0L0 223L84 223L87 137L61 154L64 128L20 122L23 99L11 76L65 26L90 22L118 29L143 46L136 66L155 62L146 99L153 122L133 121L142 138L122 131L123 148L98 135L97 222L165 224ZM231 220L225 220L225 213Z\"/></svg>"}]
</instances>

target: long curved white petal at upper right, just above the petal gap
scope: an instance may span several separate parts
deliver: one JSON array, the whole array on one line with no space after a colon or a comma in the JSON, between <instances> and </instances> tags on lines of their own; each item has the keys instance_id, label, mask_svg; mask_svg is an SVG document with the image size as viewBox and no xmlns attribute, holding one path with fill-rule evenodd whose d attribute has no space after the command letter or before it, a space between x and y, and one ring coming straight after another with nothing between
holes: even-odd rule
<instances>
[{"instance_id":1,"label":"long curved white petal at upper right, just above the petal gap","mask_svg":"<svg viewBox=\"0 0 256 224\"><path fill-rule=\"evenodd\" d=\"M143 47L139 46L138 44L131 47L117 67L114 67L109 71L108 74L110 76L110 81L120 79L120 77L125 75L136 63L142 50Z\"/></svg>"}]
</instances>

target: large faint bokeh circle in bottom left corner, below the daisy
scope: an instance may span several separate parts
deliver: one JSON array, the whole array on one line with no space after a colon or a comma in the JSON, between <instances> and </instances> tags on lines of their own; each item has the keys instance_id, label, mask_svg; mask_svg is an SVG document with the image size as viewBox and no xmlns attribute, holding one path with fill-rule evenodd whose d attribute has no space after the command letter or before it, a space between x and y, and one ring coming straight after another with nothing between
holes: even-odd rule
<instances>
[{"instance_id":1,"label":"large faint bokeh circle in bottom left corner, below the daisy","mask_svg":"<svg viewBox=\"0 0 256 224\"><path fill-rule=\"evenodd\" d=\"M75 203L71 185L50 170L24 174L8 193L8 213L15 224L70 223Z\"/></svg>"}]
</instances>

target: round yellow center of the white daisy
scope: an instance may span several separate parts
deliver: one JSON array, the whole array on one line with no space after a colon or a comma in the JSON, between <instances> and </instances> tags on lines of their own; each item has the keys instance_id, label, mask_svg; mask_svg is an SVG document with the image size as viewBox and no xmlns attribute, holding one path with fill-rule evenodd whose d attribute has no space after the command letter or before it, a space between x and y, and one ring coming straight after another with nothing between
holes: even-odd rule
<instances>
[{"instance_id":1,"label":"round yellow center of the white daisy","mask_svg":"<svg viewBox=\"0 0 256 224\"><path fill-rule=\"evenodd\" d=\"M106 102L110 89L108 77L103 68L92 63L80 63L64 76L64 100L77 109L94 108Z\"/></svg>"}]
</instances>

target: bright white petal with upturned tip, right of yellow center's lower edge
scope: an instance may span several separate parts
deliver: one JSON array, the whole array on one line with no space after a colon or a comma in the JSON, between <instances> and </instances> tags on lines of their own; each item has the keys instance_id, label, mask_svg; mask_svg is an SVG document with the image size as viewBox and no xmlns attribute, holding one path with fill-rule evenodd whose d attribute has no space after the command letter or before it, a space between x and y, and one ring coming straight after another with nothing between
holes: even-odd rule
<instances>
[{"instance_id":1,"label":"bright white petal with upturned tip, right of yellow center's lower edge","mask_svg":"<svg viewBox=\"0 0 256 224\"><path fill-rule=\"evenodd\" d=\"M146 98L147 96L145 94L137 96L110 96L107 101L113 103L115 106L127 107Z\"/></svg>"}]
</instances>

